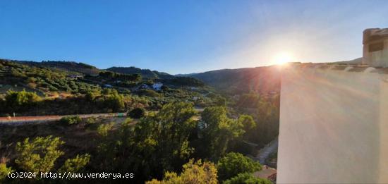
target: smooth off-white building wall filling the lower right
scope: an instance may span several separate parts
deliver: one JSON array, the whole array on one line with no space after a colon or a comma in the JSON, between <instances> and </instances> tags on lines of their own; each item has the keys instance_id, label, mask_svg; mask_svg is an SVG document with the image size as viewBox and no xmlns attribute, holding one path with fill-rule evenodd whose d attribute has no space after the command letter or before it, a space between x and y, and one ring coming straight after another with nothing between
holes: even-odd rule
<instances>
[{"instance_id":1,"label":"smooth off-white building wall filling the lower right","mask_svg":"<svg viewBox=\"0 0 388 184\"><path fill-rule=\"evenodd\" d=\"M388 183L387 75L286 68L277 183Z\"/></svg>"}]
</instances>

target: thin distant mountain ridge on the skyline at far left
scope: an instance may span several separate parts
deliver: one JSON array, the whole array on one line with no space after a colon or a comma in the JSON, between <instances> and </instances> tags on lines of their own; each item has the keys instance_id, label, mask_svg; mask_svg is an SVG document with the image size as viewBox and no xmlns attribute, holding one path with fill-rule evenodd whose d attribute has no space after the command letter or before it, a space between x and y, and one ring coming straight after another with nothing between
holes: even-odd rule
<instances>
[{"instance_id":1,"label":"thin distant mountain ridge on the skyline at far left","mask_svg":"<svg viewBox=\"0 0 388 184\"><path fill-rule=\"evenodd\" d=\"M11 60L10 60L11 61ZM64 70L68 72L82 73L85 75L97 75L101 70L95 66L86 63L77 63L74 61L15 61L28 66L51 68L56 70Z\"/></svg>"}]
</instances>

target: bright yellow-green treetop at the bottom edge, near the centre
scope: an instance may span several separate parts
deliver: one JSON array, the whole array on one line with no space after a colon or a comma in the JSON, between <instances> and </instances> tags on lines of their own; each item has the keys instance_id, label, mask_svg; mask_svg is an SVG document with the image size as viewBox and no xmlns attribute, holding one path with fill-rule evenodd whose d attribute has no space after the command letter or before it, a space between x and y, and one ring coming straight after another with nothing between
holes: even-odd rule
<instances>
[{"instance_id":1,"label":"bright yellow-green treetop at the bottom edge, near the centre","mask_svg":"<svg viewBox=\"0 0 388 184\"><path fill-rule=\"evenodd\" d=\"M174 172L164 173L163 180L159 181L153 179L146 182L147 184L216 184L217 180L217 169L212 162L203 162L198 160L196 162L191 159L187 164L183 165L183 171L180 176Z\"/></svg>"}]
</instances>

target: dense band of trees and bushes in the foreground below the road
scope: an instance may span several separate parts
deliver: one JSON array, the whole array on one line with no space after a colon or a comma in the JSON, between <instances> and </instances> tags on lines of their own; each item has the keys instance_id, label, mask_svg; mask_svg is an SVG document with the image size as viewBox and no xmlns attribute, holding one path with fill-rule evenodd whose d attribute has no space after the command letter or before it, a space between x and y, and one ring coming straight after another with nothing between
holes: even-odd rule
<instances>
[{"instance_id":1,"label":"dense band of trees and bushes in the foreground below the road","mask_svg":"<svg viewBox=\"0 0 388 184\"><path fill-rule=\"evenodd\" d=\"M201 121L197 118L199 115L203 117ZM49 135L31 140L27 137L16 144L11 151L15 157L7 162L4 169L37 172L133 171L133 180L138 182L198 180L199 183L216 183L217 180L229 180L239 173L253 173L261 168L248 157L233 153L232 142L242 141L245 125L243 121L228 118L224 107L209 107L198 114L192 104L180 102L166 104L156 114L149 114L135 124L131 119L119 124L90 125L87 122L79 122L78 117L59 122L61 126L82 125L88 130L95 130L95 145L88 148L87 153L73 153L75 156L71 158L61 151L61 146L66 143L59 137ZM56 161L63 156L68 159ZM206 161L202 163L200 159ZM193 175L197 172L201 174Z\"/></svg>"}]
</instances>

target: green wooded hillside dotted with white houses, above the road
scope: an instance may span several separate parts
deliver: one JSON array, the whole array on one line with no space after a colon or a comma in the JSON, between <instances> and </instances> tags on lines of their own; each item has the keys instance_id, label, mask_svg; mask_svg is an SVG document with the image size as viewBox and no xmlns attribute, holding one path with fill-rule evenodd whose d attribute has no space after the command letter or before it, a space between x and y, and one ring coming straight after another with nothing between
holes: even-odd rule
<instances>
[{"instance_id":1,"label":"green wooded hillside dotted with white houses, above the road","mask_svg":"<svg viewBox=\"0 0 388 184\"><path fill-rule=\"evenodd\" d=\"M72 69L54 67L66 64ZM75 73L85 68L97 70L85 63L0 60L0 116L111 113L138 107L157 110L178 101L194 102L197 106L216 103L205 97L211 89L193 78L170 75L164 80L146 79L138 73L105 70L98 70L95 75ZM152 89L154 82L164 82L162 90Z\"/></svg>"}]
</instances>

